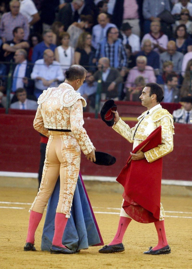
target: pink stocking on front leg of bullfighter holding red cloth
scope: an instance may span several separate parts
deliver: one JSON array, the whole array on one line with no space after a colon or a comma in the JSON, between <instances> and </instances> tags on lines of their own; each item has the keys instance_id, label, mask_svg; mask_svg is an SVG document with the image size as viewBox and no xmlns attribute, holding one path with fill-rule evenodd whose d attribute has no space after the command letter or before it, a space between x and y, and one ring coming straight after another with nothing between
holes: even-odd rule
<instances>
[{"instance_id":1,"label":"pink stocking on front leg of bullfighter holding red cloth","mask_svg":"<svg viewBox=\"0 0 192 269\"><path fill-rule=\"evenodd\" d=\"M122 243L125 231L126 231L130 222L131 222L130 218L120 217L117 233L116 233L113 241L110 244L108 244L109 246Z\"/></svg>"}]
</instances>

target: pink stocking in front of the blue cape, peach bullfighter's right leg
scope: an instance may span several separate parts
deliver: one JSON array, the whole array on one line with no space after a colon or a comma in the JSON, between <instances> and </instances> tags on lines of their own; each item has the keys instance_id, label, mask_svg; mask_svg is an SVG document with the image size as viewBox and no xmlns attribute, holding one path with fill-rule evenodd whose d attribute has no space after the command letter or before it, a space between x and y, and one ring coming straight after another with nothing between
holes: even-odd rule
<instances>
[{"instance_id":1,"label":"pink stocking in front of the blue cape, peach bullfighter's right leg","mask_svg":"<svg viewBox=\"0 0 192 269\"><path fill-rule=\"evenodd\" d=\"M65 214L62 213L56 213L55 215L55 233L53 236L53 242L52 244L58 247L64 247L62 244L62 237L63 233L67 224L68 218L66 218Z\"/></svg>"}]
</instances>

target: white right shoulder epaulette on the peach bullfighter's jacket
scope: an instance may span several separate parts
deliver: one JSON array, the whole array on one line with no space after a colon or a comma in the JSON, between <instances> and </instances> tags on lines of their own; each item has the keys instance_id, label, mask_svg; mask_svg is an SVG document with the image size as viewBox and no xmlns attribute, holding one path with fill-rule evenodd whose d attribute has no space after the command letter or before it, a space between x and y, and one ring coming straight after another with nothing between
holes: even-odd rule
<instances>
[{"instance_id":1,"label":"white right shoulder epaulette on the peach bullfighter's jacket","mask_svg":"<svg viewBox=\"0 0 192 269\"><path fill-rule=\"evenodd\" d=\"M86 107L87 103L80 93L77 93L74 89L65 90L60 97L60 103L62 105L60 109L63 107L71 107L78 99L81 99L83 107Z\"/></svg>"}]
</instances>

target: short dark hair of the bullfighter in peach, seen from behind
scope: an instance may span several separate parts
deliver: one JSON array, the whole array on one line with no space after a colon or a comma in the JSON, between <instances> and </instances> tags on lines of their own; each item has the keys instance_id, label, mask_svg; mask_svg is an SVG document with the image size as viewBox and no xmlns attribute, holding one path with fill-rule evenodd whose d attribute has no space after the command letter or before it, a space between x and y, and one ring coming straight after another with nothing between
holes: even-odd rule
<instances>
[{"instance_id":1,"label":"short dark hair of the bullfighter in peach, seen from behind","mask_svg":"<svg viewBox=\"0 0 192 269\"><path fill-rule=\"evenodd\" d=\"M69 81L82 79L85 73L87 73L87 70L81 65L71 65L70 68L65 71L66 79Z\"/></svg>"}]
</instances>

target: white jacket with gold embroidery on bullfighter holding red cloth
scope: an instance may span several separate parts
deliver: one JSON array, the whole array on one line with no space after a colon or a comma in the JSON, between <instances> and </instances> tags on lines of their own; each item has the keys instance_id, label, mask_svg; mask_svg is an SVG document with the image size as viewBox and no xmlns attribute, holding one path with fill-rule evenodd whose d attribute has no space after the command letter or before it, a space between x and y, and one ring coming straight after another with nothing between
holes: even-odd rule
<instances>
[{"instance_id":1,"label":"white jacket with gold embroidery on bullfighter holding red cloth","mask_svg":"<svg viewBox=\"0 0 192 269\"><path fill-rule=\"evenodd\" d=\"M133 143L134 149L161 125L162 143L144 153L148 162L153 162L173 150L173 117L166 109L158 104L149 110L148 115L145 111L137 119L138 123L133 128L130 128L121 118L112 128Z\"/></svg>"}]
</instances>

